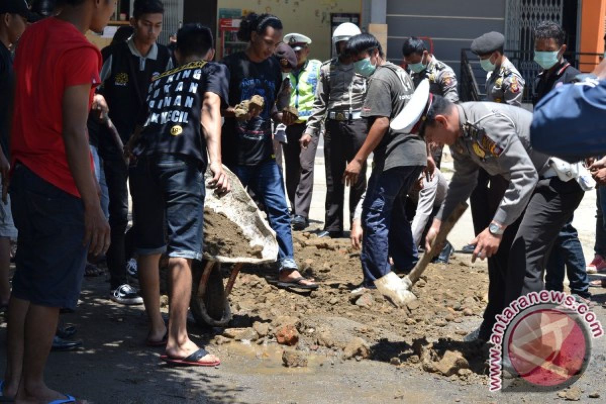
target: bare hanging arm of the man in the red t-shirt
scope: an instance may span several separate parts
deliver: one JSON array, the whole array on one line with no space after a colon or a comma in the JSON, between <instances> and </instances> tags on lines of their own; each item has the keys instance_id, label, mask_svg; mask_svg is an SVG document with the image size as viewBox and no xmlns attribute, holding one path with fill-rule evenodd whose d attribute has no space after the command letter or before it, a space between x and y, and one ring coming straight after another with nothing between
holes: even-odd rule
<instances>
[{"instance_id":1,"label":"bare hanging arm of the man in the red t-shirt","mask_svg":"<svg viewBox=\"0 0 606 404\"><path fill-rule=\"evenodd\" d=\"M110 245L110 227L101 211L98 184L90 167L86 121L90 84L65 88L62 100L63 141L67 163L84 203L83 243L94 254L105 253Z\"/></svg>"}]
</instances>

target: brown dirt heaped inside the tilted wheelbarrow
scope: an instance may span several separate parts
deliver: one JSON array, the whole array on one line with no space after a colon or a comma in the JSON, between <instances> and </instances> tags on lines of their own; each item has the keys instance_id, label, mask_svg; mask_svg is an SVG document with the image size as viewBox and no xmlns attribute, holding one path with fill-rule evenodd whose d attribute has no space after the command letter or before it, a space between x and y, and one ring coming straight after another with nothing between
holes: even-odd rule
<instances>
[{"instance_id":1,"label":"brown dirt heaped inside the tilted wheelbarrow","mask_svg":"<svg viewBox=\"0 0 606 404\"><path fill-rule=\"evenodd\" d=\"M210 256L262 258L261 246L251 247L241 228L225 214L204 209L204 253Z\"/></svg>"}]
</instances>

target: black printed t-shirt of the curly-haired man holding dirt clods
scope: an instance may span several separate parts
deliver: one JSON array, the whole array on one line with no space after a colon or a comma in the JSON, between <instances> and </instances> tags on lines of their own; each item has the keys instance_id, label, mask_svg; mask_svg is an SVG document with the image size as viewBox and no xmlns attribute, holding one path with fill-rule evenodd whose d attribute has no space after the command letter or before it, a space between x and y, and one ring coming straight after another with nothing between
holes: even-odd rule
<instances>
[{"instance_id":1,"label":"black printed t-shirt of the curly-haired man holding dirt clods","mask_svg":"<svg viewBox=\"0 0 606 404\"><path fill-rule=\"evenodd\" d=\"M223 162L226 165L256 165L273 157L271 144L271 111L282 82L279 62L270 57L255 63L245 52L229 55L222 60L230 71L229 105L262 96L265 107L256 118L238 122L225 118L222 133Z\"/></svg>"}]
</instances>

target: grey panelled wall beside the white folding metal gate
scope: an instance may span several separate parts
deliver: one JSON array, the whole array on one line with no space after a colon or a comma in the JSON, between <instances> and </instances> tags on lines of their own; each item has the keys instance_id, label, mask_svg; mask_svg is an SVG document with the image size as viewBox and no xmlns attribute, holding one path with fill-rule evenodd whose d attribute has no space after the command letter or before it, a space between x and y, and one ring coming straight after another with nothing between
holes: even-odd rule
<instances>
[{"instance_id":1,"label":"grey panelled wall beside the white folding metal gate","mask_svg":"<svg viewBox=\"0 0 606 404\"><path fill-rule=\"evenodd\" d=\"M489 32L505 31L506 0L387 0L387 58L399 64L407 36L428 36L436 58L459 75L461 48ZM482 82L482 81L481 81Z\"/></svg>"}]
</instances>

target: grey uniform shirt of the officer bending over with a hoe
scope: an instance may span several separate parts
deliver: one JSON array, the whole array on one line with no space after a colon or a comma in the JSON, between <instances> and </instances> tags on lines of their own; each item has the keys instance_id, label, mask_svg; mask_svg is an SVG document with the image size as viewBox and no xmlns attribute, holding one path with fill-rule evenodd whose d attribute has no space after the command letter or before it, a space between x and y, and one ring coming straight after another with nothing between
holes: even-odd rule
<instances>
[{"instance_id":1,"label":"grey uniform shirt of the officer bending over with a hoe","mask_svg":"<svg viewBox=\"0 0 606 404\"><path fill-rule=\"evenodd\" d=\"M524 212L548 156L530 145L532 113L522 108L491 102L456 105L462 136L451 146L454 174L438 219L444 220L459 202L470 196L478 168L509 181L494 220L508 226Z\"/></svg>"}]
</instances>

